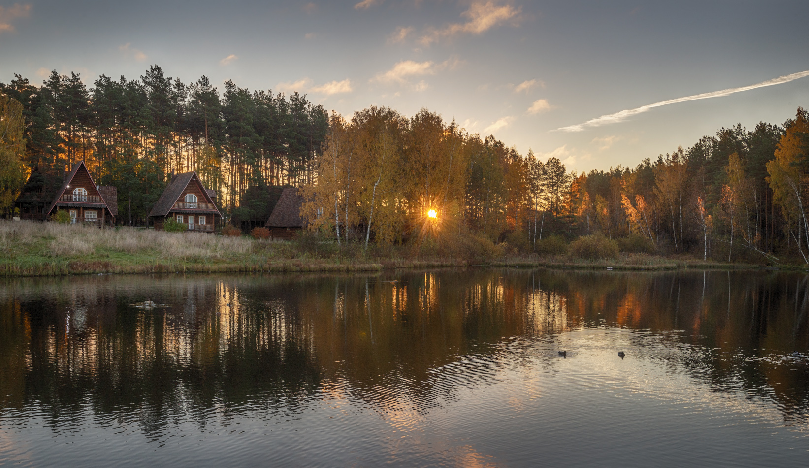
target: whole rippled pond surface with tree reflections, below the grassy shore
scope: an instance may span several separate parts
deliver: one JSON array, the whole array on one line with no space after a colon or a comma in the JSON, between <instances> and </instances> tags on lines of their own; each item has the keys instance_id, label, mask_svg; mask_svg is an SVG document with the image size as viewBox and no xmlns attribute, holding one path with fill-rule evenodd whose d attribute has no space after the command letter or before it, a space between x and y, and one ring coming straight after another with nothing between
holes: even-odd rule
<instances>
[{"instance_id":1,"label":"whole rippled pond surface with tree reflections, below the grassy shore","mask_svg":"<svg viewBox=\"0 0 809 468\"><path fill-rule=\"evenodd\" d=\"M807 286L525 269L6 280L0 465L807 466ZM147 299L171 307L131 305Z\"/></svg>"}]
</instances>

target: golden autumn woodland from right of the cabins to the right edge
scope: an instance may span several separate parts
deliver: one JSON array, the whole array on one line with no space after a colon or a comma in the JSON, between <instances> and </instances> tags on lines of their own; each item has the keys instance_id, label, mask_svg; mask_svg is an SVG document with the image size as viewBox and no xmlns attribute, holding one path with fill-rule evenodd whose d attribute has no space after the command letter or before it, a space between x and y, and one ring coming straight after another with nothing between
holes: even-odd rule
<instances>
[{"instance_id":1,"label":"golden autumn woodland from right of the cabins to the right edge","mask_svg":"<svg viewBox=\"0 0 809 468\"><path fill-rule=\"evenodd\" d=\"M594 234L625 250L809 264L809 116L737 124L634 168L567 172L422 109L332 115L303 217L337 242L483 236L542 251ZM430 217L431 212L435 217Z\"/></svg>"}]
</instances>

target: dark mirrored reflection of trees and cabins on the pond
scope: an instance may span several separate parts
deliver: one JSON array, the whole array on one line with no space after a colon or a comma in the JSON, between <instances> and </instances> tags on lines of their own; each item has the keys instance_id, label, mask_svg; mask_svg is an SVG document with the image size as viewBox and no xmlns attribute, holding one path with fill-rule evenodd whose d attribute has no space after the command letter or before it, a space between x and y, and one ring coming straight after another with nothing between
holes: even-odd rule
<instances>
[{"instance_id":1,"label":"dark mirrored reflection of trees and cabins on the pond","mask_svg":"<svg viewBox=\"0 0 809 468\"><path fill-rule=\"evenodd\" d=\"M130 307L147 299L172 308ZM381 408L396 394L422 411L451 398L452 385L435 387L435 371L464 356L496 359L505 342L617 327L650 330L637 339L663 349L698 345L662 354L661 365L772 399L794 423L807 418L809 379L794 371L805 364L779 356L809 349L806 301L805 275L766 272L5 280L0 412L36 404L64 418L86 402L99 414L149 408L140 423L150 428L218 405L238 413L349 390ZM485 385L496 369L476 372Z\"/></svg>"}]
</instances>

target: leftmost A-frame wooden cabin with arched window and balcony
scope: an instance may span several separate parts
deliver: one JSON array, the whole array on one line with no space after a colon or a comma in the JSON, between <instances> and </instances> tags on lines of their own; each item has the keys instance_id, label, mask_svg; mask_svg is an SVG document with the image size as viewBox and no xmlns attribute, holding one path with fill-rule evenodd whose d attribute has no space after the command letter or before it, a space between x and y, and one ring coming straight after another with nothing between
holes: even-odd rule
<instances>
[{"instance_id":1,"label":"leftmost A-frame wooden cabin with arched window and balcony","mask_svg":"<svg viewBox=\"0 0 809 468\"><path fill-rule=\"evenodd\" d=\"M118 195L115 187L101 187L87 170L84 161L78 161L55 186L53 175L35 169L28 177L23 192L15 201L21 219L49 219L58 210L70 213L72 223L102 226L115 224L118 215ZM47 203L47 205L46 205Z\"/></svg>"}]
</instances>

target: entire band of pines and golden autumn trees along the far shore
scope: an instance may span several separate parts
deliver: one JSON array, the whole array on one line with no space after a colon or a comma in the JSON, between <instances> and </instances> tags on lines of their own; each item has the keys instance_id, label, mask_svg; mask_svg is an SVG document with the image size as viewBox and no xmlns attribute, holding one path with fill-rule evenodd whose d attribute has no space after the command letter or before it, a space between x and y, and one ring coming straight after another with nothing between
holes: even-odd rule
<instances>
[{"instance_id":1,"label":"entire band of pines and golden autumn trees along the far shore","mask_svg":"<svg viewBox=\"0 0 809 468\"><path fill-rule=\"evenodd\" d=\"M15 75L0 91L3 207L26 171L85 160L130 219L148 213L172 172L196 170L230 216L266 205L254 196L264 187L299 186L303 218L341 245L477 236L541 253L549 240L598 234L648 253L809 264L803 108L782 125L737 124L634 168L577 174L426 109L329 115L298 93L232 81L220 93L159 66L94 87L74 73L41 86Z\"/></svg>"}]
</instances>

